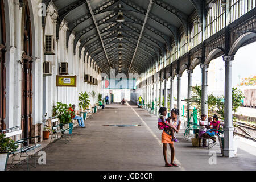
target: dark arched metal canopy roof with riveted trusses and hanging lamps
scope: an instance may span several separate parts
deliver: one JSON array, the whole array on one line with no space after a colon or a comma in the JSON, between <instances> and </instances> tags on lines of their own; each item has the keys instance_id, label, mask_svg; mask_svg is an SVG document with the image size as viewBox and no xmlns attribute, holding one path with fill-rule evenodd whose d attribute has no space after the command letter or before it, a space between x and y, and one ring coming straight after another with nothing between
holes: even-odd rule
<instances>
[{"instance_id":1,"label":"dark arched metal canopy roof with riveted trusses and hanging lamps","mask_svg":"<svg viewBox=\"0 0 256 182\"><path fill-rule=\"evenodd\" d=\"M202 25L202 1L43 1L58 10L56 36L63 21L68 24L67 45L75 35L74 51L80 41L92 60L109 73L143 73L160 56L178 46L179 33L188 38L190 15ZM43 18L44 24L44 18ZM120 36L120 39L119 39ZM121 54L120 54L121 53ZM119 56L120 55L120 56ZM121 59L119 59L121 57Z\"/></svg>"}]
</instances>

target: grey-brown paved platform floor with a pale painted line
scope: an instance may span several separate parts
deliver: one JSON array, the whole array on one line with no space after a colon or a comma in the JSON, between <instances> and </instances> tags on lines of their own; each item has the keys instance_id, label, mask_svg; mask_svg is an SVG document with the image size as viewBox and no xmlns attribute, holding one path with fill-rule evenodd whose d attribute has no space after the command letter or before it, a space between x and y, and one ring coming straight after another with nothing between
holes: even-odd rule
<instances>
[{"instance_id":1,"label":"grey-brown paved platform floor with a pale painted line","mask_svg":"<svg viewBox=\"0 0 256 182\"><path fill-rule=\"evenodd\" d=\"M176 137L175 163L179 167L164 167L161 131L156 127L157 118L137 105L106 105L104 111L93 114L86 120L86 129L75 128L71 142L60 141L49 144L46 165L31 170L135 170L135 171L175 171L175 170L255 170L256 146L240 140L234 158L222 157L220 147L192 147L183 139L183 129ZM117 127L106 125L139 125L138 127ZM184 123L181 124L184 126ZM184 128L184 127L183 127ZM216 152L216 164L209 159ZM168 147L168 160L170 148ZM12 170L20 170L13 168Z\"/></svg>"}]
</instances>

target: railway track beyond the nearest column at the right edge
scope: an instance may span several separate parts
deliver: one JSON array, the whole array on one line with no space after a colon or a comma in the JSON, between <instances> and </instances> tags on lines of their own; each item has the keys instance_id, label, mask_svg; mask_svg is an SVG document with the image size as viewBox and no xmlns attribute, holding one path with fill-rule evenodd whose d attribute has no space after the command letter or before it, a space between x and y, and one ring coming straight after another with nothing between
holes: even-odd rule
<instances>
[{"instance_id":1,"label":"railway track beyond the nearest column at the right edge","mask_svg":"<svg viewBox=\"0 0 256 182\"><path fill-rule=\"evenodd\" d=\"M236 134L256 142L256 126L244 122L236 122Z\"/></svg>"}]
</instances>

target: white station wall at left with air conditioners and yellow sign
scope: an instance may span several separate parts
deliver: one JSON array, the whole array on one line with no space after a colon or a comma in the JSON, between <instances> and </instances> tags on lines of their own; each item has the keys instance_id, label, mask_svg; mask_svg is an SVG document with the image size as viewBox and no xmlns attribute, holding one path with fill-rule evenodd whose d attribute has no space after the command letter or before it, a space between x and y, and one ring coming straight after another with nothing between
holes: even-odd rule
<instances>
[{"instance_id":1,"label":"white station wall at left with air conditioners and yellow sign","mask_svg":"<svg viewBox=\"0 0 256 182\"><path fill-rule=\"evenodd\" d=\"M32 118L33 124L42 123L43 110L48 113L48 117L52 114L52 106L57 102L67 104L76 104L78 106L78 95L80 92L92 90L101 92L100 85L92 86L84 82L84 74L93 75L94 78L101 79L100 74L87 64L87 53L84 60L84 48L82 49L81 59L79 59L79 46L76 46L76 54L73 51L73 35L69 39L68 49L66 47L66 31L65 22L61 24L59 39L56 40L56 24L49 17L52 15L55 7L50 5L46 17L46 27L43 31L41 17L38 15L38 4L40 0L28 0L31 15L32 27L32 47L33 47L33 64L32 64ZM19 7L18 0L5 0L6 15L6 127L20 126L21 121L21 69L19 63L23 53L23 32L22 32L22 13L23 9ZM55 15L56 16L56 15ZM44 35L53 35L55 38L55 55L44 55ZM89 57L90 59L90 57ZM43 61L52 62L52 76L43 78ZM77 76L77 88L57 88L56 75L59 72L60 62L68 61L69 75ZM94 63L94 61L93 61ZM43 86L44 82L44 86ZM20 92L19 92L20 90ZM45 94L45 105L43 105L43 94ZM92 99L92 98L91 98ZM97 100L97 98L96 98ZM77 107L78 109L78 107Z\"/></svg>"}]
</instances>

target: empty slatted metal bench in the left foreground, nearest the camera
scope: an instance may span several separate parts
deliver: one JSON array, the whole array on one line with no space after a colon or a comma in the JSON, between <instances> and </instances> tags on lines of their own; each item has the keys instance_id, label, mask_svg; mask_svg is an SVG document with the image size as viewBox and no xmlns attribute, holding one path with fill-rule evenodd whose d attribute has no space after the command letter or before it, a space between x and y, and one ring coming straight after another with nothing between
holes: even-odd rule
<instances>
[{"instance_id":1,"label":"empty slatted metal bench in the left foreground, nearest the camera","mask_svg":"<svg viewBox=\"0 0 256 182\"><path fill-rule=\"evenodd\" d=\"M38 138L40 136L35 136L35 137L27 137L27 138L22 138L22 130L20 130L19 126L12 127L10 129L6 130L0 130L1 133L5 134L5 138L12 138L15 140L15 136L19 136L18 141L15 142L15 144L18 146L18 150L15 152L10 152L9 154L12 155L12 162L10 164L10 168L13 168L14 166L20 167L22 163L27 164L27 170L29 171L30 166L36 168L36 148L40 148L41 150L41 144L38 143ZM21 139L20 139L21 138ZM35 142L33 144L29 144L28 140L35 139ZM34 151L34 152L33 152ZM31 154L32 152L32 154ZM15 160L15 156L19 154L19 159ZM24 156L22 156L24 154ZM22 159L24 158L25 159ZM30 159L34 161L34 164L30 163ZM13 165L14 162L17 162L16 164ZM20 167L21 168L21 167ZM22 168L23 169L23 168Z\"/></svg>"}]
</instances>

